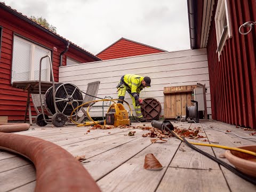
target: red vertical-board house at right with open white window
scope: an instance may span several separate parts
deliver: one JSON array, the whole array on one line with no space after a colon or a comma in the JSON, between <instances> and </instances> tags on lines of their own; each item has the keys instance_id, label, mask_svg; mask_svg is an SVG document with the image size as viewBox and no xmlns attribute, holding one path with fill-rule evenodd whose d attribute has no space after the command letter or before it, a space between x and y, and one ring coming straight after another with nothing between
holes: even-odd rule
<instances>
[{"instance_id":1,"label":"red vertical-board house at right with open white window","mask_svg":"<svg viewBox=\"0 0 256 192\"><path fill-rule=\"evenodd\" d=\"M191 49L207 49L212 118L255 129L256 1L187 2Z\"/></svg>"}]
</instances>

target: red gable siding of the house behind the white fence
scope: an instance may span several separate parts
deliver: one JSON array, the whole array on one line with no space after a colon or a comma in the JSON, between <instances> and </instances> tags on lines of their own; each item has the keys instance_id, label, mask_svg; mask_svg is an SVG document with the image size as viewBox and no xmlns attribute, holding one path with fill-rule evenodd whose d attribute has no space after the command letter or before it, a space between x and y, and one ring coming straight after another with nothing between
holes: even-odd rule
<instances>
[{"instance_id":1,"label":"red gable siding of the house behind the white fence","mask_svg":"<svg viewBox=\"0 0 256 192\"><path fill-rule=\"evenodd\" d=\"M121 39L97 55L102 60L131 57L135 55L163 52L153 47Z\"/></svg>"}]
</instances>

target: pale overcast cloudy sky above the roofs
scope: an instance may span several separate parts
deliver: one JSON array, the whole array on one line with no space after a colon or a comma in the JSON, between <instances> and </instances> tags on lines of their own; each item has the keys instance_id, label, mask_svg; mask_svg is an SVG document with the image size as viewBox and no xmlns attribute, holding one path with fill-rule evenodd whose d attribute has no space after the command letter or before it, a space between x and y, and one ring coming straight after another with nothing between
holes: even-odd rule
<instances>
[{"instance_id":1,"label":"pale overcast cloudy sky above the roofs","mask_svg":"<svg viewBox=\"0 0 256 192\"><path fill-rule=\"evenodd\" d=\"M166 51L190 49L187 0L3 0L43 17L57 33L97 54L124 37Z\"/></svg>"}]
</instances>

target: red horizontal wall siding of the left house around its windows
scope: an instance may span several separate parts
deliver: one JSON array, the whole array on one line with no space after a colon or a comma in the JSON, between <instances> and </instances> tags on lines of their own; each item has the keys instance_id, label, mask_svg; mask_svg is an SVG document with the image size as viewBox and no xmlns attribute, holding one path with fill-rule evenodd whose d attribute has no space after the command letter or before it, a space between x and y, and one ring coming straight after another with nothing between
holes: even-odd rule
<instances>
[{"instance_id":1,"label":"red horizontal wall siding of the left house around its windows","mask_svg":"<svg viewBox=\"0 0 256 192\"><path fill-rule=\"evenodd\" d=\"M49 47L51 50L53 50L54 46L57 47L58 52L52 51L54 79L57 82L59 80L60 52L65 50L66 46L60 40L2 9L0 9L0 15L0 26L3 27L0 53L0 116L8 116L9 121L22 120L25 115L27 92L21 89L14 89L11 86L13 33L27 37L32 41ZM81 62L95 61L86 54L72 48L66 54ZM63 65L66 65L65 56ZM34 109L33 115L36 115Z\"/></svg>"}]
</instances>

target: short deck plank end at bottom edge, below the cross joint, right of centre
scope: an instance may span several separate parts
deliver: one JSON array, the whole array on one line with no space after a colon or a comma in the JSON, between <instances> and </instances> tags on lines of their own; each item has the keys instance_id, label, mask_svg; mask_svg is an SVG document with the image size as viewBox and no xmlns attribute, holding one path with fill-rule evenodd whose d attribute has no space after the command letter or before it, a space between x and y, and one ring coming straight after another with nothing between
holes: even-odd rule
<instances>
[{"instance_id":1,"label":"short deck plank end at bottom edge, below the cross joint, right of centre","mask_svg":"<svg viewBox=\"0 0 256 192\"><path fill-rule=\"evenodd\" d=\"M156 192L230 191L221 170L194 170L169 167Z\"/></svg>"}]
</instances>

